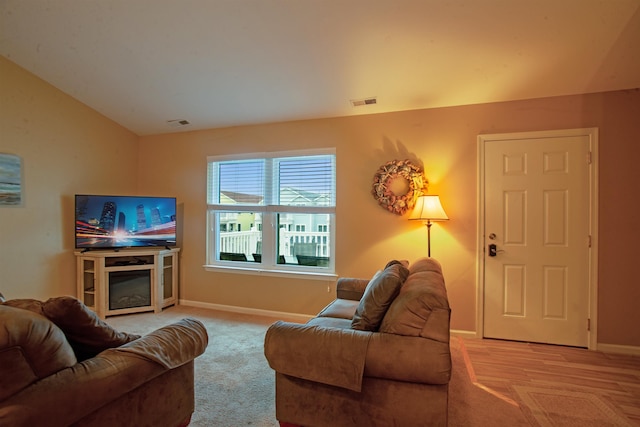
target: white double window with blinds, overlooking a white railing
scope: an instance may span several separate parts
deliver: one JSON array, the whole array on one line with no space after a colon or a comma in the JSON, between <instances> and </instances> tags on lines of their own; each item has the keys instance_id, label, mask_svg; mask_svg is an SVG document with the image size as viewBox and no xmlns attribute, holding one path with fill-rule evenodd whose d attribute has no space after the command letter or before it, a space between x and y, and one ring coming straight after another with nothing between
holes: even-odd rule
<instances>
[{"instance_id":1,"label":"white double window with blinds, overlooking a white railing","mask_svg":"<svg viewBox=\"0 0 640 427\"><path fill-rule=\"evenodd\" d=\"M334 150L208 158L207 265L332 274Z\"/></svg>"}]
</instances>

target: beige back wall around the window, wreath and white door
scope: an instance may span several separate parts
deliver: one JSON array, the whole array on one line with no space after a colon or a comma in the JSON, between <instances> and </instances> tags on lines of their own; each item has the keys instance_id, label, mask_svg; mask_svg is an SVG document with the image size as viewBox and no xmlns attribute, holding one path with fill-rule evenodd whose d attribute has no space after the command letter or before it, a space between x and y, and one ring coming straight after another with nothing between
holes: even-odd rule
<instances>
[{"instance_id":1,"label":"beige back wall around the window, wreath and white door","mask_svg":"<svg viewBox=\"0 0 640 427\"><path fill-rule=\"evenodd\" d=\"M370 195L376 169L392 159L424 163L430 191L451 220L432 228L432 255L441 261L452 328L475 330L477 135L564 128L600 128L599 341L640 345L632 276L640 237L640 93L611 92L440 108L350 118L243 126L140 139L142 192L176 194L183 209L180 297L191 301L312 314L333 298L327 283L207 272L206 157L237 152L335 146L338 204L336 269L369 277L391 258L426 253L421 224L389 214ZM634 155L635 154L635 155ZM608 218L616 218L611 221ZM624 219L623 219L624 218Z\"/></svg>"}]
</instances>

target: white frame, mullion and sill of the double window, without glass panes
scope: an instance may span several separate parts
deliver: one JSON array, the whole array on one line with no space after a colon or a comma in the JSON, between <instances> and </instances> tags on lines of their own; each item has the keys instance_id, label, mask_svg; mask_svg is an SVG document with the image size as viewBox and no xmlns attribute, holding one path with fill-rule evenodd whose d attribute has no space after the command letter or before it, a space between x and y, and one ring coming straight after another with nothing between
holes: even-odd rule
<instances>
[{"instance_id":1,"label":"white frame, mullion and sill of the double window, without glass panes","mask_svg":"<svg viewBox=\"0 0 640 427\"><path fill-rule=\"evenodd\" d=\"M277 151L263 153L248 153L240 155L224 155L224 156L208 156L207 168L212 162L236 161L236 160L253 160L253 159L276 159L285 157L304 157L314 155L333 155L335 159L335 148L330 149L311 149L311 150L295 150L295 151ZM335 160L334 160L335 161ZM268 175L269 172L265 171ZM209 173L207 173L207 248L206 248L206 264L204 266L207 271L224 271L228 273L238 274L254 274L269 275L280 277L300 276L306 279L316 280L335 280L335 249L336 249L336 207L333 206L281 206L281 205L222 205L209 203L209 195L212 191L219 189L211 189L212 182ZM267 178L266 186L273 185ZM335 177L334 177L334 197L335 197ZM224 261L219 260L218 253L218 233L220 232L220 224L216 220L216 213L221 212L252 212L262 214L262 262L253 261ZM285 213L303 213L303 214L328 214L330 216L331 227L329 227L329 248L330 257L329 265L326 267L303 266L297 264L278 264L276 263L276 242L278 238L277 215Z\"/></svg>"}]
</instances>

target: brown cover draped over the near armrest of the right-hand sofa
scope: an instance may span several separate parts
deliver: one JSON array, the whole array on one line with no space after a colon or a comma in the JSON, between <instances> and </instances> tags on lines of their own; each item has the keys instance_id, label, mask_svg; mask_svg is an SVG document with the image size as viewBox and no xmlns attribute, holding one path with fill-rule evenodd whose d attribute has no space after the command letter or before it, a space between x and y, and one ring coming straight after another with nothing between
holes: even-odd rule
<instances>
[{"instance_id":1,"label":"brown cover draped over the near armrest of the right-hand sofa","mask_svg":"<svg viewBox=\"0 0 640 427\"><path fill-rule=\"evenodd\" d=\"M370 332L278 321L264 353L276 372L360 391Z\"/></svg>"}]
</instances>

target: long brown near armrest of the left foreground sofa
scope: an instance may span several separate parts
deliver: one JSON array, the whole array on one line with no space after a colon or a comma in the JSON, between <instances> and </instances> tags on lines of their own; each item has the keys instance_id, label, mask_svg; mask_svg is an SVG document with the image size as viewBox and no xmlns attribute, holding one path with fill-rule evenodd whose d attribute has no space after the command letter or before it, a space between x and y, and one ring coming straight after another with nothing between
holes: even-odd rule
<instances>
[{"instance_id":1,"label":"long brown near armrest of the left foreground sofa","mask_svg":"<svg viewBox=\"0 0 640 427\"><path fill-rule=\"evenodd\" d=\"M140 351L105 350L43 378L0 402L0 425L68 426L168 371L163 361L175 366L189 363L206 347L202 331L192 322L197 321L183 320L149 334L151 339L146 336L126 344ZM157 348L147 355L142 351L149 350L152 341L164 346L163 341L172 339L180 343L169 350Z\"/></svg>"}]
</instances>

